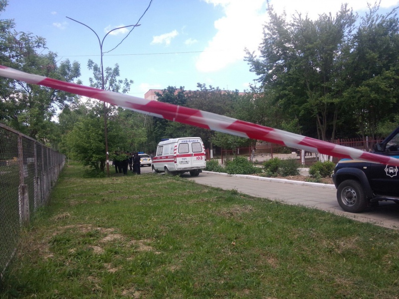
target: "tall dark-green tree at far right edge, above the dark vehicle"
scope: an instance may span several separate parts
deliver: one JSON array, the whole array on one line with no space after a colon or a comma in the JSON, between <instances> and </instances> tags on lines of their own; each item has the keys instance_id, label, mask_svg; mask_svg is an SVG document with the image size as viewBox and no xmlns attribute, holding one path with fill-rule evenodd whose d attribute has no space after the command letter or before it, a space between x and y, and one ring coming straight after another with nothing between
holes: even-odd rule
<instances>
[{"instance_id":1,"label":"tall dark-green tree at far right edge, above the dark vehicle","mask_svg":"<svg viewBox=\"0 0 399 299\"><path fill-rule=\"evenodd\" d=\"M399 109L399 19L397 9L386 15L369 5L354 34L345 92L352 120L363 136L375 138L382 123L392 122Z\"/></svg>"}]
</instances>

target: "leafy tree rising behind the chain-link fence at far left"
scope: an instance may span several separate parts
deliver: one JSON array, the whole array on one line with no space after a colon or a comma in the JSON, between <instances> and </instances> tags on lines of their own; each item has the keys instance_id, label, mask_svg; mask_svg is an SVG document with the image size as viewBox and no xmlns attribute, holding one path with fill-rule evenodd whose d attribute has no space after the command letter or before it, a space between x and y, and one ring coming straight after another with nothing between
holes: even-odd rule
<instances>
[{"instance_id":1,"label":"leafy tree rising behind the chain-link fence at far left","mask_svg":"<svg viewBox=\"0 0 399 299\"><path fill-rule=\"evenodd\" d=\"M0 1L4 11L7 1ZM16 32L13 20L0 20L0 63L24 72L73 82L80 76L77 62L65 60L57 65L53 52L46 50L45 39L31 33ZM55 125L51 119L76 96L25 82L0 78L0 122L43 143L54 136ZM79 81L76 81L79 83Z\"/></svg>"}]
</instances>

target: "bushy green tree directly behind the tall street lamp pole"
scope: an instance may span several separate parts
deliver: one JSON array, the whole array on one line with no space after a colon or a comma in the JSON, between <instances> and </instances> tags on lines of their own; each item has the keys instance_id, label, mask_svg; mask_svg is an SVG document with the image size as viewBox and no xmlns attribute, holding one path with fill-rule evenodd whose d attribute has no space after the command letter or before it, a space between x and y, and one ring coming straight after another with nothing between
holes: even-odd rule
<instances>
[{"instance_id":1,"label":"bushy green tree directly behind the tall street lamp pole","mask_svg":"<svg viewBox=\"0 0 399 299\"><path fill-rule=\"evenodd\" d=\"M88 61L88 68L93 70L93 78L89 79L90 86L101 88L102 76L100 68L92 60ZM119 76L118 64L114 68L107 67L105 69L104 88L114 92L128 92L133 81L120 80L118 79ZM106 107L106 109L108 116L108 151L131 150L131 133L136 129L131 126L134 122L129 122L128 119L133 118L133 114L113 105ZM70 129L71 121L73 120L77 120L77 123ZM75 103L74 110L70 111L70 107L67 107L62 113L61 122L65 132L68 132L63 140L63 148L71 156L83 161L84 165L97 171L104 171L106 150L103 103L95 100L86 103L84 107Z\"/></svg>"}]
</instances>

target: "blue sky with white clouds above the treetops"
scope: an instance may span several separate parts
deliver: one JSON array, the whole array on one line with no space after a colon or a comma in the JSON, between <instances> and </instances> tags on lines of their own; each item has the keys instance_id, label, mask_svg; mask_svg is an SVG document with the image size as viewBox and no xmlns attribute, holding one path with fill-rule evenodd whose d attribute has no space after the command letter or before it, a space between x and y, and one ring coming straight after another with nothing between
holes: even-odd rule
<instances>
[{"instance_id":1,"label":"blue sky with white clouds above the treetops","mask_svg":"<svg viewBox=\"0 0 399 299\"><path fill-rule=\"evenodd\" d=\"M369 0L370 1L370 0ZM367 0L347 0L360 14ZM383 9L398 6L399 0L382 0ZM46 39L59 60L78 61L81 80L88 85L91 71L87 60L100 64L100 39L109 30L135 24L150 0L9 0L1 18L13 18L17 31ZM341 1L270 0L277 12L335 13ZM134 81L129 94L144 97L149 89L197 83L221 89L244 91L256 79L243 60L244 48L255 51L261 42L262 24L267 20L266 0L153 0L151 7L130 35L112 52L104 66L120 66L121 79ZM115 31L116 32L116 31ZM103 51L115 47L126 32L108 35Z\"/></svg>"}]
</instances>

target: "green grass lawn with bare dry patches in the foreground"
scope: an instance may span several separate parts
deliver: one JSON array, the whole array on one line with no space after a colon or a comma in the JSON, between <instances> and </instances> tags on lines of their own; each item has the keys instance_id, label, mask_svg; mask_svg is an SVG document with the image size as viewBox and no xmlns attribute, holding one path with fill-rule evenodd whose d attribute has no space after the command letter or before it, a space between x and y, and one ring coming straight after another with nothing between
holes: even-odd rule
<instances>
[{"instance_id":1,"label":"green grass lawn with bare dry patches in the foreground","mask_svg":"<svg viewBox=\"0 0 399 299\"><path fill-rule=\"evenodd\" d=\"M0 298L397 298L399 234L176 176L65 165Z\"/></svg>"}]
</instances>

